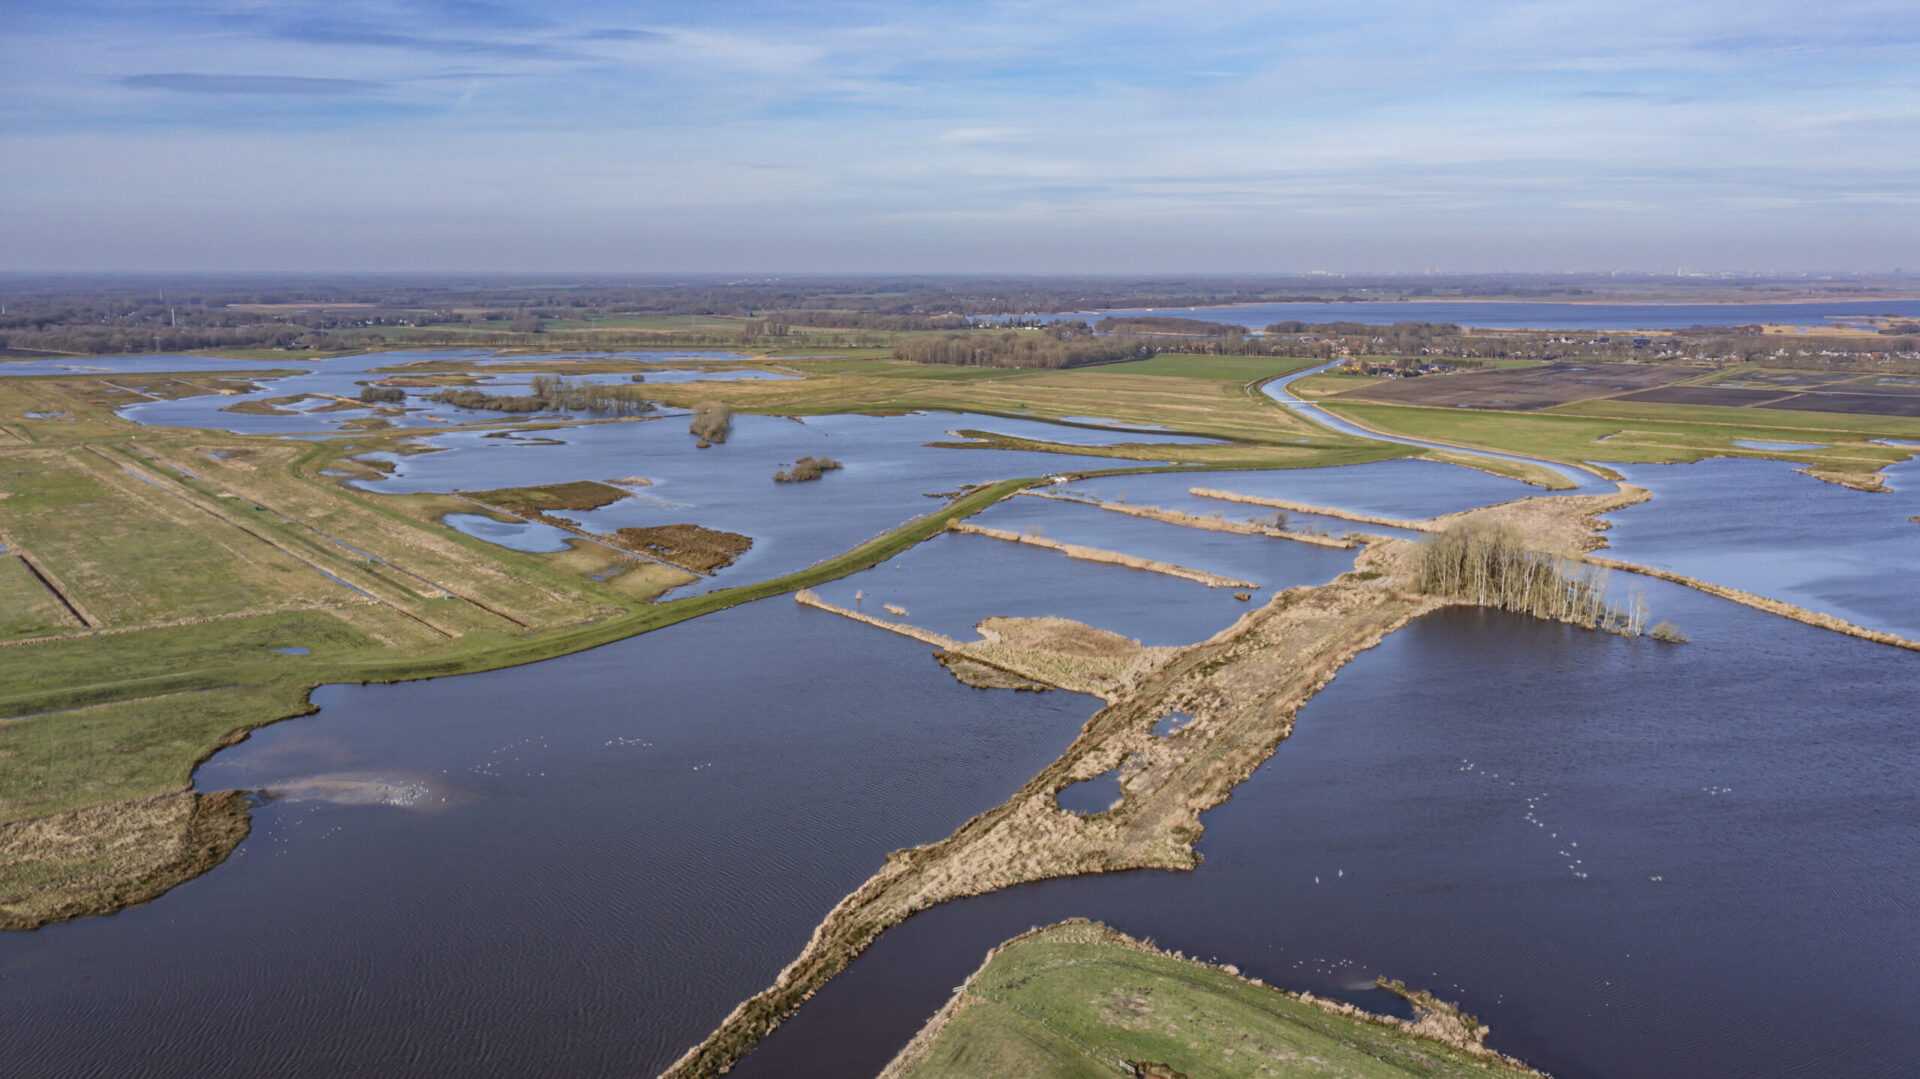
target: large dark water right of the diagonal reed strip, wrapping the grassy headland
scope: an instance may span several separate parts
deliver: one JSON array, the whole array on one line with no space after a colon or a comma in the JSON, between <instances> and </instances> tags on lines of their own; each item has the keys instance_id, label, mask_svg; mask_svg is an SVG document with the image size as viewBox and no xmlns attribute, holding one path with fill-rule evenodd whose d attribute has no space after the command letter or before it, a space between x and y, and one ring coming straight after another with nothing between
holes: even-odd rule
<instances>
[{"instance_id":1,"label":"large dark water right of the diagonal reed strip, wrapping the grassy headland","mask_svg":"<svg viewBox=\"0 0 1920 1079\"><path fill-rule=\"evenodd\" d=\"M1202 818L1198 872L916 916L733 1073L872 1075L989 947L1087 916L1377 1010L1404 977L1563 1079L1912 1075L1920 657L1655 586L1693 643L1390 635Z\"/></svg>"}]
</instances>

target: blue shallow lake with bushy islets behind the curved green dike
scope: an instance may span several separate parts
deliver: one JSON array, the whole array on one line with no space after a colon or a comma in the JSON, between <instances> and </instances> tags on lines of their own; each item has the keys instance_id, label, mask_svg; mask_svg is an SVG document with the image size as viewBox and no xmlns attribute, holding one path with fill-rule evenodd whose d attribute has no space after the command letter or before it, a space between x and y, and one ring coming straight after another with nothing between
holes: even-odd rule
<instances>
[{"instance_id":1,"label":"blue shallow lake with bushy islets behind the curved green dike","mask_svg":"<svg viewBox=\"0 0 1920 1079\"><path fill-rule=\"evenodd\" d=\"M810 566L943 505L927 495L1010 476L1133 465L1069 453L927 445L954 442L950 432L960 428L1114 442L1112 432L952 413L829 415L804 422L743 415L733 417L724 444L699 449L687 422L668 417L547 430L540 440L447 432L426 440L444 449L388 457L394 474L361 486L405 493L645 476L653 486L634 497L566 516L591 532L693 522L751 536L753 549L718 574L720 586L732 586ZM1179 440L1167 438L1173 440L1169 451L1177 453ZM774 472L803 455L833 457L843 467L804 484L774 482Z\"/></svg>"}]
</instances>

